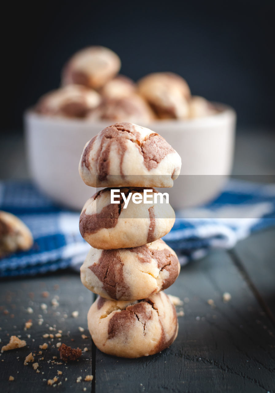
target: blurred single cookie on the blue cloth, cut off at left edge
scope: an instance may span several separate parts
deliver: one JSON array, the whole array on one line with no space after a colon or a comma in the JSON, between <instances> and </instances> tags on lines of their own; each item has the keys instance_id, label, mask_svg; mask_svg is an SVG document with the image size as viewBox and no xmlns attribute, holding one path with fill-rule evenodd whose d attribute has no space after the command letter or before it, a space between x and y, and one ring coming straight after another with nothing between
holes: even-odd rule
<instances>
[{"instance_id":1,"label":"blurred single cookie on the blue cloth, cut off at left edge","mask_svg":"<svg viewBox=\"0 0 275 393\"><path fill-rule=\"evenodd\" d=\"M0 211L0 257L29 250L33 237L29 228L15 215Z\"/></svg>"}]
</instances>

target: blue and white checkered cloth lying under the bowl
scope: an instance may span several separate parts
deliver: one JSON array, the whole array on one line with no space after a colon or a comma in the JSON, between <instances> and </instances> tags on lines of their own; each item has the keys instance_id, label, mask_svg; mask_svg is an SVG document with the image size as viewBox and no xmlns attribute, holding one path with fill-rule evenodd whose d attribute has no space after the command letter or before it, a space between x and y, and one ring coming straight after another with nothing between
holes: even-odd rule
<instances>
[{"instance_id":1,"label":"blue and white checkered cloth lying under the bowl","mask_svg":"<svg viewBox=\"0 0 275 393\"><path fill-rule=\"evenodd\" d=\"M79 212L52 204L29 182L0 182L0 210L17 215L33 234L34 245L0 259L0 277L79 269L90 246L79 233ZM275 226L275 184L230 180L211 204L176 213L163 239L181 264L211 249L232 248L251 233Z\"/></svg>"}]
</instances>

